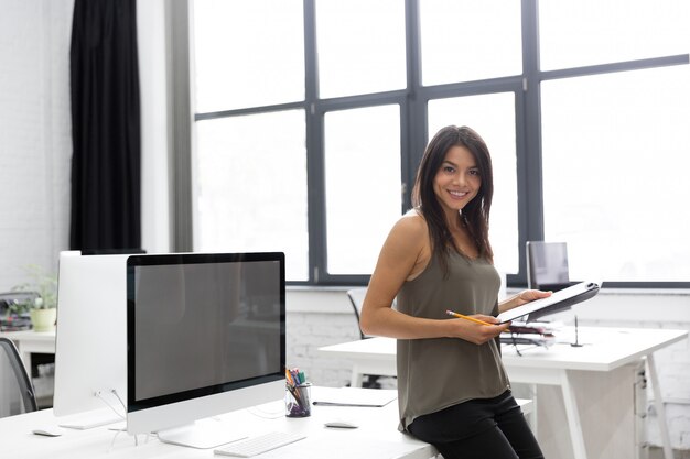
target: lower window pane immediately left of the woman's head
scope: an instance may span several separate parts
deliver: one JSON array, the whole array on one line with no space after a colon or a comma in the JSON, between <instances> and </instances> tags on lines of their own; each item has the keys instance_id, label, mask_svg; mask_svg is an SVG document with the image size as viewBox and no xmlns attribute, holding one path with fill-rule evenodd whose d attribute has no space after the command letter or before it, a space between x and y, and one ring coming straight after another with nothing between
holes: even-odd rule
<instances>
[{"instance_id":1,"label":"lower window pane immediately left of the woman's head","mask_svg":"<svg viewBox=\"0 0 690 459\"><path fill-rule=\"evenodd\" d=\"M327 272L370 273L402 207L400 108L326 113L324 139Z\"/></svg>"}]
</instances>

